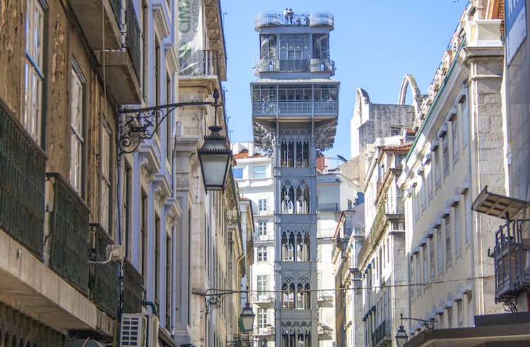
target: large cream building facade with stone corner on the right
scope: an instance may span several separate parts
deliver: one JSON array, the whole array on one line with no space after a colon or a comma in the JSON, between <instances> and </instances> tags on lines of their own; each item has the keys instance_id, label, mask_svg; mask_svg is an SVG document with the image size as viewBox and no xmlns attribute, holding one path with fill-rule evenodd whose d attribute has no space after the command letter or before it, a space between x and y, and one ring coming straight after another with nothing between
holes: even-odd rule
<instances>
[{"instance_id":1,"label":"large cream building facade with stone corner on the right","mask_svg":"<svg viewBox=\"0 0 530 347\"><path fill-rule=\"evenodd\" d=\"M483 1L478 1L482 3ZM481 190L505 194L501 20L473 1L416 110L418 131L399 185L406 196L408 317L471 327L495 305L488 247L498 221L471 211ZM489 16L489 17L488 17ZM408 77L402 92L406 90ZM401 97L400 97L401 99ZM424 327L404 322L410 336Z\"/></svg>"}]
</instances>

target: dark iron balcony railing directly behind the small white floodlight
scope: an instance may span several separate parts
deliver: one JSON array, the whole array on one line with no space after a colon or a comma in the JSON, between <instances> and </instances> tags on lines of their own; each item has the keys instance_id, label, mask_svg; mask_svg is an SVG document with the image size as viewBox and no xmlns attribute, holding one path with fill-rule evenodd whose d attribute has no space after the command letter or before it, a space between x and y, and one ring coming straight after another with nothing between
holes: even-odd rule
<instances>
[{"instance_id":1,"label":"dark iron balcony railing directly behind the small white floodlight","mask_svg":"<svg viewBox=\"0 0 530 347\"><path fill-rule=\"evenodd\" d=\"M102 230L99 224L90 224L90 259L92 261L106 261L108 246L114 245L112 237ZM110 261L107 264L90 264L90 300L117 318L119 314L119 263Z\"/></svg>"}]
</instances>

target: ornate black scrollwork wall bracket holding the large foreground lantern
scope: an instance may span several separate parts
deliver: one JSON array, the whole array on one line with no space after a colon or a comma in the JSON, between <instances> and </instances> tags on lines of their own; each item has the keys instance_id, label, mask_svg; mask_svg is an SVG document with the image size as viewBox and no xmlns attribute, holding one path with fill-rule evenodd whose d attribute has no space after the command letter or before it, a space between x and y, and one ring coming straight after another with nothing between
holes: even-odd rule
<instances>
[{"instance_id":1,"label":"ornate black scrollwork wall bracket holding the large foreground lantern","mask_svg":"<svg viewBox=\"0 0 530 347\"><path fill-rule=\"evenodd\" d=\"M154 107L121 109L119 119L123 118L123 125L118 127L119 155L133 153L140 146L142 140L152 139L164 119L177 107L211 105L216 107L215 117L217 122L217 107L223 103L219 100L219 90L213 91L211 101L177 102L176 104L158 105ZM123 117L122 117L123 116Z\"/></svg>"}]
</instances>

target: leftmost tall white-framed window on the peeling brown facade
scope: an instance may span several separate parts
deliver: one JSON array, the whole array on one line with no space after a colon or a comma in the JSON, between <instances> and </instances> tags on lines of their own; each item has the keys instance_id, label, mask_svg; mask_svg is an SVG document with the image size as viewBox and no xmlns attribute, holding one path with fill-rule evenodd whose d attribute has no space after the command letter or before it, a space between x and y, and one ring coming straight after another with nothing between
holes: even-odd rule
<instances>
[{"instance_id":1,"label":"leftmost tall white-framed window on the peeling brown facade","mask_svg":"<svg viewBox=\"0 0 530 347\"><path fill-rule=\"evenodd\" d=\"M25 17L24 125L38 143L42 127L44 11L39 0L28 0Z\"/></svg>"}]
</instances>

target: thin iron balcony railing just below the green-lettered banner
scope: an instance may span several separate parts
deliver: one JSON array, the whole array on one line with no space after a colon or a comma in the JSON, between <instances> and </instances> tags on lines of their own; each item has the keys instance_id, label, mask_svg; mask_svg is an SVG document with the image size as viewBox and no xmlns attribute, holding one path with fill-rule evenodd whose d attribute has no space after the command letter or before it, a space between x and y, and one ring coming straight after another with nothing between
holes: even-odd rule
<instances>
[{"instance_id":1,"label":"thin iron balcony railing just below the green-lettered banner","mask_svg":"<svg viewBox=\"0 0 530 347\"><path fill-rule=\"evenodd\" d=\"M219 60L215 49L204 49L196 52L184 52L179 57L180 75L184 76L218 76Z\"/></svg>"}]
</instances>

